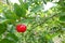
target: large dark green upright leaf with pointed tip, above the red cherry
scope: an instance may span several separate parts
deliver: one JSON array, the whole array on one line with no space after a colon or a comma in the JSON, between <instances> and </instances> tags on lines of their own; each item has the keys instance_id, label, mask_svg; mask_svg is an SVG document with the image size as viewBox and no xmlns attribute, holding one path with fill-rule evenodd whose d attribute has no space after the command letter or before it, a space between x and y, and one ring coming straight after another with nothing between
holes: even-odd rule
<instances>
[{"instance_id":1,"label":"large dark green upright leaf with pointed tip, above the red cherry","mask_svg":"<svg viewBox=\"0 0 65 43\"><path fill-rule=\"evenodd\" d=\"M14 4L14 12L18 17L25 17L26 10L22 9L17 3Z\"/></svg>"}]
</instances>

